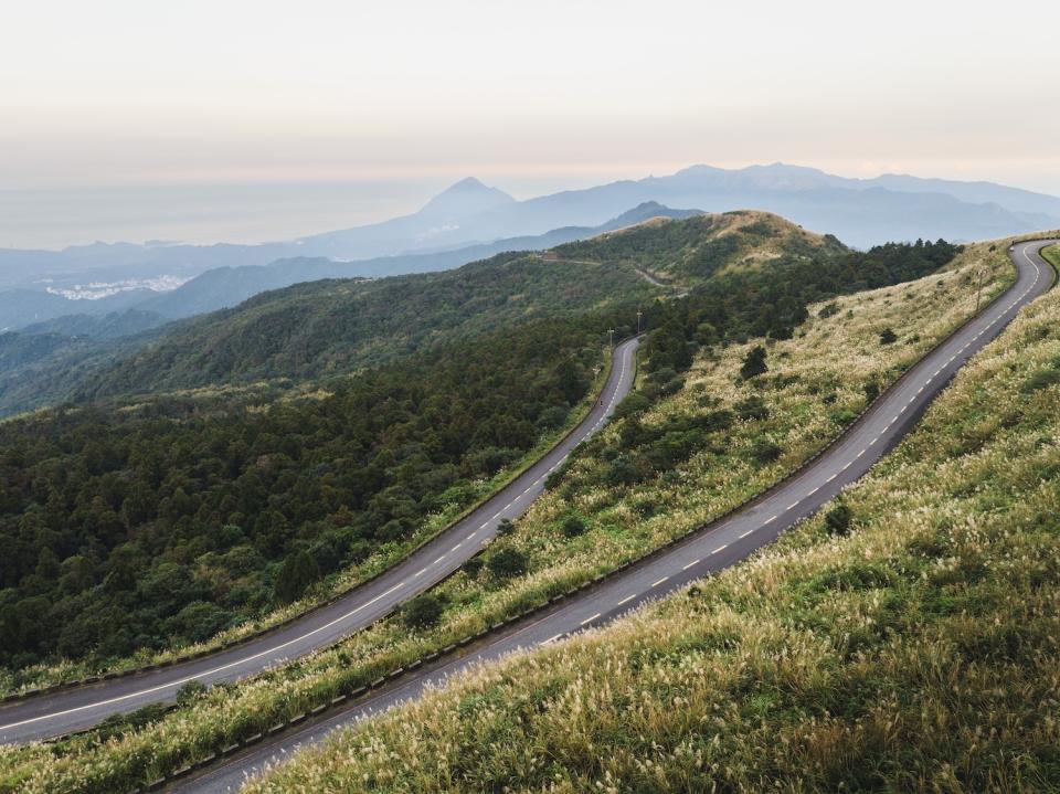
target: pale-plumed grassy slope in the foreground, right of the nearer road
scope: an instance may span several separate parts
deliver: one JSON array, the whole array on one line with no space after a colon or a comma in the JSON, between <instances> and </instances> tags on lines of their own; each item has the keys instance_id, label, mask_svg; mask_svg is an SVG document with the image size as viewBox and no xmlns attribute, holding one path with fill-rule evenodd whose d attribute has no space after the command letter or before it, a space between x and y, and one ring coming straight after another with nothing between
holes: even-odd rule
<instances>
[{"instance_id":1,"label":"pale-plumed grassy slope in the foreground, right of the nearer road","mask_svg":"<svg viewBox=\"0 0 1060 794\"><path fill-rule=\"evenodd\" d=\"M1052 293L963 370L848 529L816 517L248 790L1057 790L1058 324Z\"/></svg>"}]
</instances>

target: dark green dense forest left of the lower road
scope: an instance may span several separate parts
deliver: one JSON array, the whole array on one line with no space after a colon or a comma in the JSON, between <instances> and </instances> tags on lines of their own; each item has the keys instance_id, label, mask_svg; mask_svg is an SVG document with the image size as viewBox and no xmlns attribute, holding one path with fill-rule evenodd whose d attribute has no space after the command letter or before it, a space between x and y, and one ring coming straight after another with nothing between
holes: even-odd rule
<instances>
[{"instance_id":1,"label":"dark green dense forest left of the lower road","mask_svg":"<svg viewBox=\"0 0 1060 794\"><path fill-rule=\"evenodd\" d=\"M454 343L322 399L0 425L0 659L202 639L405 538L565 421L608 319Z\"/></svg>"}]
</instances>

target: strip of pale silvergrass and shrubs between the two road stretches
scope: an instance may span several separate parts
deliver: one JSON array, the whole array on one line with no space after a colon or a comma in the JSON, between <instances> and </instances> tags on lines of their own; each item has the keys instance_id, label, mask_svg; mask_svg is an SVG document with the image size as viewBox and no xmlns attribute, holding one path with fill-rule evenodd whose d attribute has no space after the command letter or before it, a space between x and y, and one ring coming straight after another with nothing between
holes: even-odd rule
<instances>
[{"instance_id":1,"label":"strip of pale silvergrass and shrubs between the two road stretches","mask_svg":"<svg viewBox=\"0 0 1060 794\"><path fill-rule=\"evenodd\" d=\"M974 274L983 266L990 274L987 295L1011 278L1003 250L969 246L937 275L812 306L809 319L792 339L766 346L770 372L752 383L741 383L739 370L761 340L704 349L683 375L685 388L657 395L639 424L681 433L679 423L727 410L734 421L701 437L689 456L645 470L633 484L608 481L607 451L623 444L625 428L634 422L608 426L515 530L491 547L485 564L469 564L435 589L443 611L433 625L413 629L404 615L395 615L332 650L234 687L214 688L165 717L146 711L115 721L98 735L0 751L7 752L0 754L0 791L134 787L639 557L728 510L819 448L849 421L845 411L865 404L866 383L886 385L967 317L975 306ZM880 331L888 327L899 341L884 346ZM753 396L761 406L748 404ZM659 436L664 438L666 434ZM762 438L784 453L763 460L755 452ZM666 463L647 453L642 445L632 454ZM571 518L582 521L583 531L568 533ZM523 555L524 574L491 572L489 560L505 550Z\"/></svg>"}]
</instances>

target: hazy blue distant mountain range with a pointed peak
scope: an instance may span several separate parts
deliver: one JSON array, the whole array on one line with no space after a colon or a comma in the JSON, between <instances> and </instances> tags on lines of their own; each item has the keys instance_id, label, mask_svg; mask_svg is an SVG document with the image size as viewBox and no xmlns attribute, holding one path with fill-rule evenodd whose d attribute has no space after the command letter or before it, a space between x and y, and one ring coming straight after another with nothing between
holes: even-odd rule
<instances>
[{"instance_id":1,"label":"hazy blue distant mountain range with a pointed peak","mask_svg":"<svg viewBox=\"0 0 1060 794\"><path fill-rule=\"evenodd\" d=\"M301 280L456 267L498 251L543 248L591 236L608 223L623 222L630 207L639 210L644 204L709 212L766 210L859 247L916 237L979 240L1060 226L1060 198L1051 195L990 182L900 174L848 179L784 163L739 170L693 166L667 177L526 201L468 178L410 215L288 242L0 250L0 330L67 314L99 316L132 307L172 319ZM182 286L163 292L174 284ZM67 297L84 294L106 297Z\"/></svg>"}]
</instances>

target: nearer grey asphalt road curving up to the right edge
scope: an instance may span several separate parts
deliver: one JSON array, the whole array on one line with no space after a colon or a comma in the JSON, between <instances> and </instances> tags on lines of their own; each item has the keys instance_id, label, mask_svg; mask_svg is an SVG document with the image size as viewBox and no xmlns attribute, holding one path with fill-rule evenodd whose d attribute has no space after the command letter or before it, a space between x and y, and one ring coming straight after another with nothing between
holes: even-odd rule
<instances>
[{"instance_id":1,"label":"nearer grey asphalt road curving up to the right edge","mask_svg":"<svg viewBox=\"0 0 1060 794\"><path fill-rule=\"evenodd\" d=\"M591 626L600 626L635 608L727 568L772 542L784 529L808 517L863 475L910 431L953 374L994 339L1016 314L1052 285L1053 271L1039 252L1057 241L1020 243L1011 252L1016 283L984 313L931 351L892 385L850 430L798 475L740 511L703 529L667 552L634 565L600 586L542 613L529 625L516 625L465 656L395 682L344 711L310 723L293 733L265 740L233 755L222 765L186 780L179 792L236 791L245 777L266 764L280 763L299 747L312 744L337 728L348 727L403 700L417 697L428 686L483 661L520 648L547 645Z\"/></svg>"}]
</instances>

